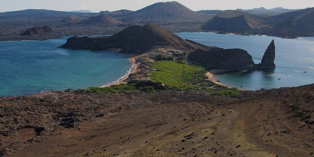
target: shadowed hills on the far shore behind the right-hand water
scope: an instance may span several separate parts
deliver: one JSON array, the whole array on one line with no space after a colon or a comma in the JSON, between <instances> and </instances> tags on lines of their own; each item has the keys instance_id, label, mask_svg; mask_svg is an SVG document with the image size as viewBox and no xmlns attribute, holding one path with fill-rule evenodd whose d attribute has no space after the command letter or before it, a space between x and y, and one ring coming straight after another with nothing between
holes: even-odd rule
<instances>
[{"instance_id":1,"label":"shadowed hills on the far shore behind the right-hand water","mask_svg":"<svg viewBox=\"0 0 314 157\"><path fill-rule=\"evenodd\" d=\"M201 25L201 28L212 31L266 34L287 38L302 35L313 36L314 7L269 17L253 15L241 10L226 10L206 21Z\"/></svg>"}]
</instances>

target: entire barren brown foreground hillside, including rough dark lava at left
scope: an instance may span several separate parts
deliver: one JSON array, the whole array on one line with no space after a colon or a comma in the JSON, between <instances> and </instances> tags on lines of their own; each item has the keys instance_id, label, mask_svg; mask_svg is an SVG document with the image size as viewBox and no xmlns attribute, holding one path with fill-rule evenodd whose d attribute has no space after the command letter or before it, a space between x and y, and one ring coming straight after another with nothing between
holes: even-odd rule
<instances>
[{"instance_id":1,"label":"entire barren brown foreground hillside, including rough dark lava at left","mask_svg":"<svg viewBox=\"0 0 314 157\"><path fill-rule=\"evenodd\" d=\"M200 91L0 98L0 154L312 156L314 84L236 97Z\"/></svg>"}]
</instances>

